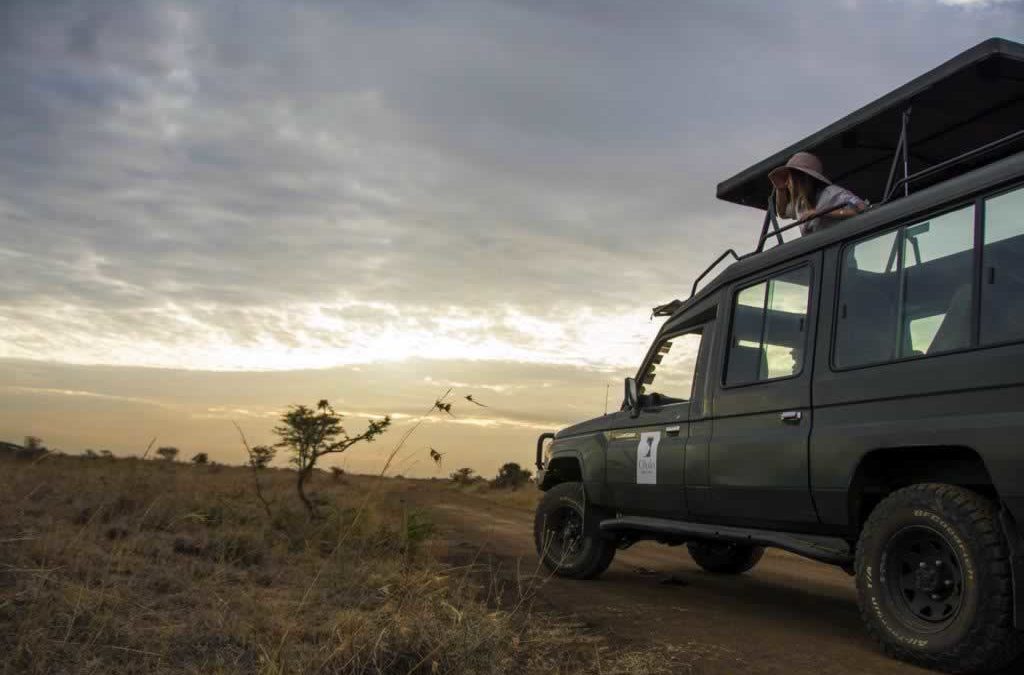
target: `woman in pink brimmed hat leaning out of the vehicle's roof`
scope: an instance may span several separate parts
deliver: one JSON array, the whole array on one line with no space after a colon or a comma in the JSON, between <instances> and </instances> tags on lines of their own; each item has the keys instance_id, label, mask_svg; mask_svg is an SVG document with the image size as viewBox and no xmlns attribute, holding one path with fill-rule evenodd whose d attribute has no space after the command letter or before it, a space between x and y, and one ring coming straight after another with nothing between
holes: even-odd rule
<instances>
[{"instance_id":1,"label":"woman in pink brimmed hat leaning out of the vehicle's roof","mask_svg":"<svg viewBox=\"0 0 1024 675\"><path fill-rule=\"evenodd\" d=\"M849 189L833 184L824 175L821 160L810 153L797 153L785 166L772 169L768 179L775 186L775 210L779 217L808 218L800 225L802 235L829 227L867 208ZM816 215L819 213L824 215Z\"/></svg>"}]
</instances>

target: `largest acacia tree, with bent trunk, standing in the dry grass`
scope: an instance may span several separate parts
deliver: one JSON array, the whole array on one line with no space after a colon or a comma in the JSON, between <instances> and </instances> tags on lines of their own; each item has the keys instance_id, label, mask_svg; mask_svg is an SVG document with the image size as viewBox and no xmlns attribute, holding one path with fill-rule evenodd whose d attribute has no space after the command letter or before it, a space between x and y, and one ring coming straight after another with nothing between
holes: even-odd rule
<instances>
[{"instance_id":1,"label":"largest acacia tree, with bent trunk, standing in the dry grass","mask_svg":"<svg viewBox=\"0 0 1024 675\"><path fill-rule=\"evenodd\" d=\"M275 447L292 453L291 462L298 470L296 488L299 499L310 517L316 515L316 509L306 497L305 484L316 468L316 461L325 455L343 453L362 440L373 442L391 426L390 417L371 420L362 433L351 436L341 425L342 417L326 398L322 398L315 410L307 406L290 407L281 416L281 424L273 427L273 432L281 438Z\"/></svg>"}]
</instances>

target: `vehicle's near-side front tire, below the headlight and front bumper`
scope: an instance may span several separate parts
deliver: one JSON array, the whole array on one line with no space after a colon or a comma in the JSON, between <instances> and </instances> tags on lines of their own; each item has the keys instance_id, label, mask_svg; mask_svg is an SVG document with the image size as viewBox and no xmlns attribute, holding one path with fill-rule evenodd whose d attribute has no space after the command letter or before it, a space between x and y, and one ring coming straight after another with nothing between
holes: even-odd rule
<instances>
[{"instance_id":1,"label":"vehicle's near-side front tire, below the headlight and front bumper","mask_svg":"<svg viewBox=\"0 0 1024 675\"><path fill-rule=\"evenodd\" d=\"M534 543L544 566L569 579L594 579L607 569L615 543L601 535L604 516L587 503L583 483L562 482L545 493L534 518Z\"/></svg>"}]
</instances>

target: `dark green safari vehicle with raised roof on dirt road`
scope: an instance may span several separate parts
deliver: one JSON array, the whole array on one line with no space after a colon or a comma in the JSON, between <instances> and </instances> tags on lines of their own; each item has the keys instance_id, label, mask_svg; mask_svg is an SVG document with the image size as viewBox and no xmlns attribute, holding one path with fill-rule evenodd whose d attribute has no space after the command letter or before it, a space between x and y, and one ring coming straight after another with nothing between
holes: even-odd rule
<instances>
[{"instance_id":1,"label":"dark green safari vehicle with raised roof on dirt road","mask_svg":"<svg viewBox=\"0 0 1024 675\"><path fill-rule=\"evenodd\" d=\"M790 237L799 222L778 224L767 174L798 151L873 206ZM957 673L1012 663L1024 45L985 41L718 196L764 210L755 250L654 309L668 319L620 412L538 440L545 564L591 579L653 540L734 575L777 547L855 575L891 656Z\"/></svg>"}]
</instances>

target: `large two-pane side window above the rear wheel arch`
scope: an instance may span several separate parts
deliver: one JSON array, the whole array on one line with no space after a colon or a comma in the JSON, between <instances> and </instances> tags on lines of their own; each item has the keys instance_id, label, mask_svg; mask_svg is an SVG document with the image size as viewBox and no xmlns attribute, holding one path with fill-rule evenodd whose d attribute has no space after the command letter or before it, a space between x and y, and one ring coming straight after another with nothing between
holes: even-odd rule
<instances>
[{"instance_id":1,"label":"large two-pane side window above the rear wheel arch","mask_svg":"<svg viewBox=\"0 0 1024 675\"><path fill-rule=\"evenodd\" d=\"M971 344L974 207L846 249L834 363L922 356Z\"/></svg>"}]
</instances>

